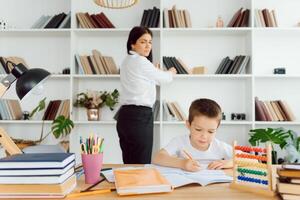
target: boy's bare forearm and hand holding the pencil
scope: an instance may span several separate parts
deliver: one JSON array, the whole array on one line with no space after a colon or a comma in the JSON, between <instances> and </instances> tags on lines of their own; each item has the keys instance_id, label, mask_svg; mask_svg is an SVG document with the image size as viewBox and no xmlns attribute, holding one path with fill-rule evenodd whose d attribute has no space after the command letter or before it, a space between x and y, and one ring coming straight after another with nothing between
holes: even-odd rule
<instances>
[{"instance_id":1,"label":"boy's bare forearm and hand holding the pencil","mask_svg":"<svg viewBox=\"0 0 300 200\"><path fill-rule=\"evenodd\" d=\"M175 167L186 171L199 171L200 167L197 163L190 159L181 159L175 156L170 156L168 152L161 149L152 160L153 164L165 166L165 167Z\"/></svg>"}]
</instances>

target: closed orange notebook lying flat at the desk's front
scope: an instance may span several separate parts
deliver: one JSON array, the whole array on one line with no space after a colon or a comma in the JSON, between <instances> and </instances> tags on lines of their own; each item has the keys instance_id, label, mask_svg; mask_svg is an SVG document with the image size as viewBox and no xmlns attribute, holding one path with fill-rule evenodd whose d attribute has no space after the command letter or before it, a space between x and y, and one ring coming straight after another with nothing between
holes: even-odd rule
<instances>
[{"instance_id":1,"label":"closed orange notebook lying flat at the desk's front","mask_svg":"<svg viewBox=\"0 0 300 200\"><path fill-rule=\"evenodd\" d=\"M155 168L113 170L119 195L171 192L171 184Z\"/></svg>"}]
</instances>

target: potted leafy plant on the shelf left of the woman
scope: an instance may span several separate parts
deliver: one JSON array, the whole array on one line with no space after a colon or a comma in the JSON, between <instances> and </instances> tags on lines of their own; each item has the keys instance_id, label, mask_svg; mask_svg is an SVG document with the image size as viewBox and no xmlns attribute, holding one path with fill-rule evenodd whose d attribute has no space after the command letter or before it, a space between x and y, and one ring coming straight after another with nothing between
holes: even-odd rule
<instances>
[{"instance_id":1,"label":"potted leafy plant on the shelf left of the woman","mask_svg":"<svg viewBox=\"0 0 300 200\"><path fill-rule=\"evenodd\" d=\"M107 106L110 110L114 110L118 100L119 91L117 89L113 92L88 90L85 93L77 94L74 106L86 108L88 120L97 121L100 119L100 108Z\"/></svg>"}]
</instances>

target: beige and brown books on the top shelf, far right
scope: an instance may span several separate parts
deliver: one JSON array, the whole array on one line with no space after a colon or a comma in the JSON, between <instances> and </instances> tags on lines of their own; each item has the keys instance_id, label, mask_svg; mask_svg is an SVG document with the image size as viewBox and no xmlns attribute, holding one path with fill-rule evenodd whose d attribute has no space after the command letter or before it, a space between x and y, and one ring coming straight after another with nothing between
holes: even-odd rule
<instances>
[{"instance_id":1,"label":"beige and brown books on the top shelf, far right","mask_svg":"<svg viewBox=\"0 0 300 200\"><path fill-rule=\"evenodd\" d=\"M256 9L255 10L255 24L257 27L278 27L275 10Z\"/></svg>"}]
</instances>

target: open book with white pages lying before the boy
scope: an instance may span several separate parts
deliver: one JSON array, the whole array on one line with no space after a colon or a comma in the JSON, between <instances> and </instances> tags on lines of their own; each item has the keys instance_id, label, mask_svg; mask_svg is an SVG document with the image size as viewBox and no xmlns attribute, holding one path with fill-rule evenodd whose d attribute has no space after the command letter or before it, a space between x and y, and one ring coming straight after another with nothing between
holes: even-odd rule
<instances>
[{"instance_id":1,"label":"open book with white pages lying before the boy","mask_svg":"<svg viewBox=\"0 0 300 200\"><path fill-rule=\"evenodd\" d=\"M225 183L233 180L231 176L226 175L222 170L204 169L198 172L187 172L177 168L157 165L145 165L145 168L156 168L174 188L192 183L206 186L212 183ZM109 182L114 182L113 170L104 171L102 173Z\"/></svg>"}]
</instances>

